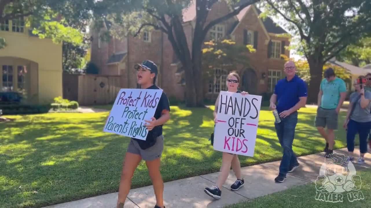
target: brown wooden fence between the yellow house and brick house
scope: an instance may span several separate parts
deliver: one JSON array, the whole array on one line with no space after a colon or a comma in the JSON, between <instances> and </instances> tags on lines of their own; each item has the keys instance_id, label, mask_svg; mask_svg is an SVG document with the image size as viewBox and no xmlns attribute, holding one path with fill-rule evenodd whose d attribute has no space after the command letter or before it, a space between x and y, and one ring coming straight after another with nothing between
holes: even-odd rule
<instances>
[{"instance_id":1,"label":"brown wooden fence between the yellow house and brick house","mask_svg":"<svg viewBox=\"0 0 371 208\"><path fill-rule=\"evenodd\" d=\"M79 105L105 105L115 101L122 76L63 74L63 98Z\"/></svg>"}]
</instances>

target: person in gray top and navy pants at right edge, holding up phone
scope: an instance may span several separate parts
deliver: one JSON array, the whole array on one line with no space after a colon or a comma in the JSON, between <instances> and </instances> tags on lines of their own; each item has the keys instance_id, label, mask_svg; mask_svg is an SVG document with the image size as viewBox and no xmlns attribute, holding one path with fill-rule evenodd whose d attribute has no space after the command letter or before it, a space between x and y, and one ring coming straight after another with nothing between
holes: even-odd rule
<instances>
[{"instance_id":1,"label":"person in gray top and navy pants at right edge, holding up phone","mask_svg":"<svg viewBox=\"0 0 371 208\"><path fill-rule=\"evenodd\" d=\"M347 118L343 125L347 129L347 146L351 161L354 160L355 135L357 133L359 134L360 155L357 161L358 164L365 162L364 155L367 152L367 136L371 129L371 92L364 89L365 84L359 84L358 82L359 79L364 78L364 76L359 76L354 81L355 92L349 97Z\"/></svg>"}]
</instances>

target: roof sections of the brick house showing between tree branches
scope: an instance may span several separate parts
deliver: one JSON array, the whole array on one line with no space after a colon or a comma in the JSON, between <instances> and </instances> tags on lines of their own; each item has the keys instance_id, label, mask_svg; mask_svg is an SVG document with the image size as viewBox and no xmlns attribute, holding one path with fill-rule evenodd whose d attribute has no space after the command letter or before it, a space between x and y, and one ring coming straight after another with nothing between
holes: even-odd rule
<instances>
[{"instance_id":1,"label":"roof sections of the brick house showing between tree branches","mask_svg":"<svg viewBox=\"0 0 371 208\"><path fill-rule=\"evenodd\" d=\"M235 6L240 6L241 4L244 3L246 0L241 0L238 4ZM246 12L252 7L252 5L249 5L245 7L243 10L240 11L239 14L236 15L238 22L240 22L243 17L245 16ZM255 6L254 6L255 7ZM255 7L258 15L262 13L259 9ZM190 6L188 6L186 9L183 9L183 22L188 22L192 21L196 18L196 0L191 0ZM237 26L238 22L235 24ZM278 26L272 19L269 17L265 18L264 20L262 19L263 25L265 29L267 30L268 33L275 33L275 34L283 34L283 33L288 33L286 30L284 30L282 27ZM234 30L232 28L231 32Z\"/></svg>"}]
</instances>

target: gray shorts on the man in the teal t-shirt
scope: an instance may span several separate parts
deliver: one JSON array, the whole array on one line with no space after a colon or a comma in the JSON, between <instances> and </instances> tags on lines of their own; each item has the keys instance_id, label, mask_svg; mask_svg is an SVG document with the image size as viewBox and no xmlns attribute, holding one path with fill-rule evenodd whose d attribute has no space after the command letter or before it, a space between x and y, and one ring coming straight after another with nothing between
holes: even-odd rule
<instances>
[{"instance_id":1,"label":"gray shorts on the man in the teal t-shirt","mask_svg":"<svg viewBox=\"0 0 371 208\"><path fill-rule=\"evenodd\" d=\"M315 118L316 127L327 126L327 129L337 130L338 129L338 113L335 109L325 109L319 107L317 109L317 115Z\"/></svg>"}]
</instances>

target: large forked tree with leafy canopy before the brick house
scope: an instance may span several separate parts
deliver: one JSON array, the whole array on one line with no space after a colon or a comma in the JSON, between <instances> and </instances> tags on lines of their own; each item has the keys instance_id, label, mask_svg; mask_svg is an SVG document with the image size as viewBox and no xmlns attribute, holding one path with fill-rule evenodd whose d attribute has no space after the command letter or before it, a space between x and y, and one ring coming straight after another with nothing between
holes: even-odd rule
<instances>
[{"instance_id":1,"label":"large forked tree with leafy canopy before the brick house","mask_svg":"<svg viewBox=\"0 0 371 208\"><path fill-rule=\"evenodd\" d=\"M191 5L190 0L102 0L97 2L95 15L108 19L112 24L109 31L118 37L128 33L137 36L143 28L155 28L167 35L173 50L185 70L186 101L188 107L204 106L202 46L208 31L216 24L238 14L242 9L259 0L227 0L230 13L212 21L207 16L219 0L193 0L196 19L191 49L183 28L183 9ZM99 21L97 21L99 22ZM99 24L96 24L99 27Z\"/></svg>"}]
</instances>

